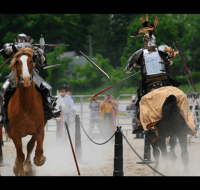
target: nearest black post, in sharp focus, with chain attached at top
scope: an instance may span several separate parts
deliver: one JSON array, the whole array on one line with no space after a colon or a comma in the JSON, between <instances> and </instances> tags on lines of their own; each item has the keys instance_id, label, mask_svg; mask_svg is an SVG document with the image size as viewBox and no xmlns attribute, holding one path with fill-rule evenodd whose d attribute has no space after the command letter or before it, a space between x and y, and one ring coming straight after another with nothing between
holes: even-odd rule
<instances>
[{"instance_id":1,"label":"nearest black post, in sharp focus, with chain attached at top","mask_svg":"<svg viewBox=\"0 0 200 190\"><path fill-rule=\"evenodd\" d=\"M113 176L124 176L123 171L123 136L117 126L115 131L115 149L114 149L114 171Z\"/></svg>"}]
</instances>

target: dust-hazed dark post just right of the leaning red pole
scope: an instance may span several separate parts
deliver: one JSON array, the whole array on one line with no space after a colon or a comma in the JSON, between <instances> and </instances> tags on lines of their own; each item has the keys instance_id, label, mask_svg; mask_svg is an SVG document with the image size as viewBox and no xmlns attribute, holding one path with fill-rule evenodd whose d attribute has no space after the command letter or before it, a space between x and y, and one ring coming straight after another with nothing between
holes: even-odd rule
<instances>
[{"instance_id":1,"label":"dust-hazed dark post just right of the leaning red pole","mask_svg":"<svg viewBox=\"0 0 200 190\"><path fill-rule=\"evenodd\" d=\"M79 162L82 162L80 117L75 116L75 153Z\"/></svg>"}]
</instances>

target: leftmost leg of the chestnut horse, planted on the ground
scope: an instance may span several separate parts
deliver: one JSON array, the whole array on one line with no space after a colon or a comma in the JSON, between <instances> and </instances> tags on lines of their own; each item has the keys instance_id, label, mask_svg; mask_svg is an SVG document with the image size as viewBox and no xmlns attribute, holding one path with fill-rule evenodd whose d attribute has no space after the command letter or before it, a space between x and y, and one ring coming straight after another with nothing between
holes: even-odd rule
<instances>
[{"instance_id":1,"label":"leftmost leg of the chestnut horse, planted on the ground","mask_svg":"<svg viewBox=\"0 0 200 190\"><path fill-rule=\"evenodd\" d=\"M23 162L24 162L25 156L22 151L22 139L19 135L17 135L17 133L15 133L15 136L12 137L12 140L17 150L17 157L15 160L15 166L13 167L13 172L15 175L18 175L18 176L25 175L25 172L23 169Z\"/></svg>"}]
</instances>

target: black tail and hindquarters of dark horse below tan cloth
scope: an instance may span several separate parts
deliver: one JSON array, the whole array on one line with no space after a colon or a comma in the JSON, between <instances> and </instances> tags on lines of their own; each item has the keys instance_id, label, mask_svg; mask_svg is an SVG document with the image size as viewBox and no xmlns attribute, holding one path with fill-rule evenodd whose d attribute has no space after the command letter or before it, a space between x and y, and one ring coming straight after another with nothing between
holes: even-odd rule
<instances>
[{"instance_id":1,"label":"black tail and hindquarters of dark horse below tan cloth","mask_svg":"<svg viewBox=\"0 0 200 190\"><path fill-rule=\"evenodd\" d=\"M162 119L157 123L158 133L168 137L180 132L188 133L190 128L181 115L176 96L170 95L162 106Z\"/></svg>"}]
</instances>

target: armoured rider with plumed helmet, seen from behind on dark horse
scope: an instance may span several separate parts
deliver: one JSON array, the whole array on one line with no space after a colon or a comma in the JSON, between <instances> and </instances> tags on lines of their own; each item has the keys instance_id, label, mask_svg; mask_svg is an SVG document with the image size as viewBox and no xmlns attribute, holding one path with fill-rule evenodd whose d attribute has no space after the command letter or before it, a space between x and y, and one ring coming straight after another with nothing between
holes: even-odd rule
<instances>
[{"instance_id":1,"label":"armoured rider with plumed helmet, seen from behind on dark horse","mask_svg":"<svg viewBox=\"0 0 200 190\"><path fill-rule=\"evenodd\" d=\"M158 17L156 19L158 19ZM148 24L148 21L144 22L143 18L140 20L142 21L143 26ZM151 29L154 25L148 24L148 26L150 26ZM155 26L153 29L155 29ZM140 30L140 33L142 33L141 31L142 30ZM140 68L142 74L142 79L139 82L139 88L137 90L137 101L135 103L136 123L132 132L133 134L140 133L143 130L139 121L139 102L142 96L162 86L180 86L179 82L171 78L170 68L173 64L173 58L178 54L178 51L175 52L167 45L157 47L156 37L153 35L152 30L149 31L144 32L147 33L143 38L144 48L139 49L129 58L128 65L124 69L126 73L130 73L135 68ZM140 34L138 36L140 36Z\"/></svg>"}]
</instances>

